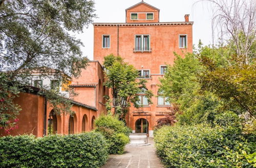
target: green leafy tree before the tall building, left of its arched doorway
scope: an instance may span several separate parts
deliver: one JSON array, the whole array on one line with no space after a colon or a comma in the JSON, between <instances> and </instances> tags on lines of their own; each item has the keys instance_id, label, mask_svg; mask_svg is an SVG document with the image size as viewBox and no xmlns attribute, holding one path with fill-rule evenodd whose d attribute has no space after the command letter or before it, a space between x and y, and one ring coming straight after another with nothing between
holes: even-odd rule
<instances>
[{"instance_id":1,"label":"green leafy tree before the tall building, left of its arched doorway","mask_svg":"<svg viewBox=\"0 0 256 168\"><path fill-rule=\"evenodd\" d=\"M139 101L137 94L141 92L141 89L146 89L146 80L137 81L138 71L134 66L125 63L121 57L116 57L113 54L104 57L103 65L106 68L106 81L104 82L104 86L111 89L115 115L124 117L131 103L133 103L135 107L139 107L137 104ZM148 103L152 104L152 92L146 90L145 94ZM111 110L110 103L111 100L109 98L107 105L107 107L109 107L108 110Z\"/></svg>"}]
</instances>

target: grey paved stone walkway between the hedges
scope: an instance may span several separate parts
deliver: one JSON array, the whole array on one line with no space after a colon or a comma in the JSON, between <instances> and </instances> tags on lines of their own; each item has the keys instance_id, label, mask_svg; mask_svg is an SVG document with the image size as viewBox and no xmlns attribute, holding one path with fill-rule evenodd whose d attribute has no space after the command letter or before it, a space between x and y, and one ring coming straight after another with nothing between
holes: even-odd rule
<instances>
[{"instance_id":1,"label":"grey paved stone walkway between the hedges","mask_svg":"<svg viewBox=\"0 0 256 168\"><path fill-rule=\"evenodd\" d=\"M110 155L102 168L163 168L154 148L153 138L148 138L150 146L126 146L124 154Z\"/></svg>"}]
</instances>

